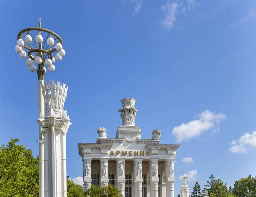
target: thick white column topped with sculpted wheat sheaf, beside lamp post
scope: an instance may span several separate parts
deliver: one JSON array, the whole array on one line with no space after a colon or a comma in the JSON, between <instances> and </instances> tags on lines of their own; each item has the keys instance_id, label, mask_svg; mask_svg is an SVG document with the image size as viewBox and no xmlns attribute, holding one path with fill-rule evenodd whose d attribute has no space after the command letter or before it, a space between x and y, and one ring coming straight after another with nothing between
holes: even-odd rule
<instances>
[{"instance_id":1,"label":"thick white column topped with sculpted wheat sheaf, beside lamp post","mask_svg":"<svg viewBox=\"0 0 256 197\"><path fill-rule=\"evenodd\" d=\"M67 98L66 84L47 81L42 84L45 118L38 122L44 135L44 196L67 197L66 133L71 125L67 111L63 110Z\"/></svg>"}]
</instances>

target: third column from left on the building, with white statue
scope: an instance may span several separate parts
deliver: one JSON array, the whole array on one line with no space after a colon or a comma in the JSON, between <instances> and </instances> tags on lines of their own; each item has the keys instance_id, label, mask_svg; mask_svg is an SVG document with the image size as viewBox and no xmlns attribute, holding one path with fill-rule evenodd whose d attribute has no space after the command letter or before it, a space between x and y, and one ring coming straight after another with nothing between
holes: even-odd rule
<instances>
[{"instance_id":1,"label":"third column from left on the building, with white statue","mask_svg":"<svg viewBox=\"0 0 256 197\"><path fill-rule=\"evenodd\" d=\"M125 196L125 159L117 159L116 162L117 188Z\"/></svg>"}]
</instances>

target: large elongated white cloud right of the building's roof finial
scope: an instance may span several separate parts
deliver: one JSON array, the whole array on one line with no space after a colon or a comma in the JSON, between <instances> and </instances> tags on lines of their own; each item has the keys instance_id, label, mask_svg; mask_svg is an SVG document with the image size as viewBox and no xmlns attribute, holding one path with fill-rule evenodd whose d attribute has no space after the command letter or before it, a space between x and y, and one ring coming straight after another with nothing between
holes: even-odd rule
<instances>
[{"instance_id":1,"label":"large elongated white cloud right of the building's roof finial","mask_svg":"<svg viewBox=\"0 0 256 197\"><path fill-rule=\"evenodd\" d=\"M174 127L172 135L175 136L176 142L182 142L184 140L200 136L201 133L215 127L215 130L219 130L218 125L221 120L227 118L224 113L215 113L210 110L204 110L201 114L198 114L198 119L189 121L188 123L182 123L179 126ZM216 127L217 126L217 127Z\"/></svg>"}]
</instances>

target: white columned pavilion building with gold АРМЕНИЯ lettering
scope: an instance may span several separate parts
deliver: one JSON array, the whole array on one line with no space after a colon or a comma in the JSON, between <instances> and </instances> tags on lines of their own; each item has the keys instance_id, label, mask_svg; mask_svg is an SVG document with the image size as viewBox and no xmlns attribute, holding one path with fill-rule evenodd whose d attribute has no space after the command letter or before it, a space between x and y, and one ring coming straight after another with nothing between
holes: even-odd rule
<instances>
[{"instance_id":1,"label":"white columned pavilion building with gold \u0410\u0420\u041c\u0415\u041d\u0418\u042f lettering","mask_svg":"<svg viewBox=\"0 0 256 197\"><path fill-rule=\"evenodd\" d=\"M151 139L142 139L141 127L135 126L135 99L121 100L122 126L115 138L98 128L96 143L79 143L84 161L84 189L91 184L111 183L124 197L174 197L174 161L180 145L161 145L161 131Z\"/></svg>"}]
</instances>

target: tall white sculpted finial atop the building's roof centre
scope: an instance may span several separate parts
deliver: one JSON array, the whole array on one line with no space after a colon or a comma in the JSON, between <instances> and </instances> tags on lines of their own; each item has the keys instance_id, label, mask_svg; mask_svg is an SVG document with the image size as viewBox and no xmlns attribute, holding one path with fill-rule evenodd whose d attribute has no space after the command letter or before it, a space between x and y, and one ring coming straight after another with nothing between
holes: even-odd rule
<instances>
[{"instance_id":1,"label":"tall white sculpted finial atop the building's roof centre","mask_svg":"<svg viewBox=\"0 0 256 197\"><path fill-rule=\"evenodd\" d=\"M136 100L134 98L124 98L120 101L123 108L118 111L121 113L122 125L135 126L135 116L138 111L134 107Z\"/></svg>"}]
</instances>

